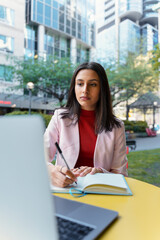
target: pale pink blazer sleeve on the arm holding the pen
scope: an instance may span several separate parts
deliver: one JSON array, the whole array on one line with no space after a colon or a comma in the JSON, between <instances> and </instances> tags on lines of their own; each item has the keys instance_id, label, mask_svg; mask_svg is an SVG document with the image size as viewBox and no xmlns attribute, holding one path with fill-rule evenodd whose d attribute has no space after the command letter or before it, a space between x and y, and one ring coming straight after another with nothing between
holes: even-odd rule
<instances>
[{"instance_id":1,"label":"pale pink blazer sleeve on the arm holding the pen","mask_svg":"<svg viewBox=\"0 0 160 240\"><path fill-rule=\"evenodd\" d=\"M56 154L55 142L59 141L58 111L55 111L44 133L44 146L47 160L52 162Z\"/></svg>"}]
</instances>

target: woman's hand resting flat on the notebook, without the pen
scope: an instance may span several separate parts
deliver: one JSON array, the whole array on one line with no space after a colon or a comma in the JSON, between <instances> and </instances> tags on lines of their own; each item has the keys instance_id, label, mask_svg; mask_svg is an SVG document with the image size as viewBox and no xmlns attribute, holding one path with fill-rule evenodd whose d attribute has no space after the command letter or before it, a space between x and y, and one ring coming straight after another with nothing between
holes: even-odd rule
<instances>
[{"instance_id":1,"label":"woman's hand resting flat on the notebook, without the pen","mask_svg":"<svg viewBox=\"0 0 160 240\"><path fill-rule=\"evenodd\" d=\"M84 177L88 173L89 174L103 173L103 170L101 168L81 166L80 168L73 168L72 172L74 174L79 174L80 177Z\"/></svg>"}]
</instances>

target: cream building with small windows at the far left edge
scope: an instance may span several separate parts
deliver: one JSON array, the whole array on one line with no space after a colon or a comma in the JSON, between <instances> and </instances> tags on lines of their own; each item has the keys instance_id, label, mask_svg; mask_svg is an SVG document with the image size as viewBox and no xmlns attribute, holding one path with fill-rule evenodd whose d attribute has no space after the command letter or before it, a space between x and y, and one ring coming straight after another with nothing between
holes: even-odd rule
<instances>
[{"instance_id":1,"label":"cream building with small windows at the far left edge","mask_svg":"<svg viewBox=\"0 0 160 240\"><path fill-rule=\"evenodd\" d=\"M0 1L0 92L12 92L11 86L16 80L10 74L7 56L23 56L24 54L25 2Z\"/></svg>"}]
</instances>

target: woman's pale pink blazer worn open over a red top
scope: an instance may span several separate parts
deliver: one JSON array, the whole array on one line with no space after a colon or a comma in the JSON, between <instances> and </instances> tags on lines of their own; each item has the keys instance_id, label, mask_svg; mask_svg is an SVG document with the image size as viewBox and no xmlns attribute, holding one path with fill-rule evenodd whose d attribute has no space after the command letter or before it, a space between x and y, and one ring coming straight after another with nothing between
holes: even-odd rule
<instances>
[{"instance_id":1,"label":"woman's pale pink blazer worn open over a red top","mask_svg":"<svg viewBox=\"0 0 160 240\"><path fill-rule=\"evenodd\" d=\"M58 142L69 167L74 168L79 155L78 123L71 124L69 119L61 119L62 109L56 110L44 134L45 148L51 162L56 154L55 142ZM113 128L111 132L98 134L95 151L94 166L103 172L121 173L128 176L126 164L126 140L124 125ZM57 153L56 165L65 166L61 156Z\"/></svg>"}]
</instances>

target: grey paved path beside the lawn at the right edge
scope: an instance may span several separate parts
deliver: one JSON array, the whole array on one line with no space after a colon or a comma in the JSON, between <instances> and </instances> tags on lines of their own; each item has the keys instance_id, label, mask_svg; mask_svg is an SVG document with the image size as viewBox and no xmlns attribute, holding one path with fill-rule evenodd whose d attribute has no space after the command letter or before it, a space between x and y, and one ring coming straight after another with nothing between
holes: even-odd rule
<instances>
[{"instance_id":1,"label":"grey paved path beside the lawn at the right edge","mask_svg":"<svg viewBox=\"0 0 160 240\"><path fill-rule=\"evenodd\" d=\"M160 134L157 134L156 137L144 137L144 138L136 138L136 150L151 150L160 148Z\"/></svg>"}]
</instances>

